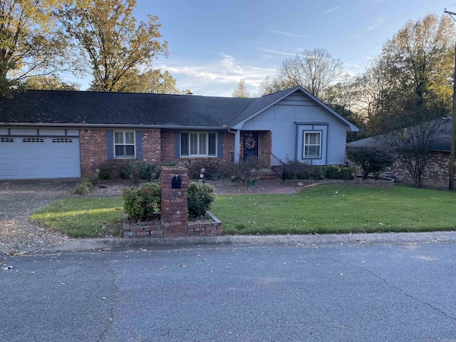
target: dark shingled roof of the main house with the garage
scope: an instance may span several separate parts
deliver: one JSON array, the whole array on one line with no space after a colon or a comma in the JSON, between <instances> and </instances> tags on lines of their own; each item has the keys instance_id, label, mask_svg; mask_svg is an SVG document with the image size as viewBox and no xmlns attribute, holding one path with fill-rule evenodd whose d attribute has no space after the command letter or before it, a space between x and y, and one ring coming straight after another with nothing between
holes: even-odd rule
<instances>
[{"instance_id":1,"label":"dark shingled roof of the main house with the garage","mask_svg":"<svg viewBox=\"0 0 456 342\"><path fill-rule=\"evenodd\" d=\"M27 90L0 98L1 123L71 125L144 125L157 128L226 128L261 113L279 100L302 91L352 130L341 115L301 86L261 98L197 95Z\"/></svg>"}]
</instances>

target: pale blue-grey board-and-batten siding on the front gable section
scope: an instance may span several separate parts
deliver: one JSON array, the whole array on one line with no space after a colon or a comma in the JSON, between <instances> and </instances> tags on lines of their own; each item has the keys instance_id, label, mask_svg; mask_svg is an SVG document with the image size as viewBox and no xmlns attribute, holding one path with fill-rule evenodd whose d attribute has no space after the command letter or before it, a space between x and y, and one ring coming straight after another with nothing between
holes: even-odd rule
<instances>
[{"instance_id":1,"label":"pale blue-grey board-and-batten siding on the front gable section","mask_svg":"<svg viewBox=\"0 0 456 342\"><path fill-rule=\"evenodd\" d=\"M319 124L319 125L318 125ZM270 130L272 132L272 153L280 160L302 159L302 133L300 125L326 125L323 130L320 160L312 160L313 165L341 165L345 162L346 132L350 130L331 112L318 105L308 96L293 93L270 108L247 120L242 130ZM316 127L316 126L315 126ZM317 129L317 128L316 128ZM320 128L318 128L320 130Z\"/></svg>"}]
</instances>

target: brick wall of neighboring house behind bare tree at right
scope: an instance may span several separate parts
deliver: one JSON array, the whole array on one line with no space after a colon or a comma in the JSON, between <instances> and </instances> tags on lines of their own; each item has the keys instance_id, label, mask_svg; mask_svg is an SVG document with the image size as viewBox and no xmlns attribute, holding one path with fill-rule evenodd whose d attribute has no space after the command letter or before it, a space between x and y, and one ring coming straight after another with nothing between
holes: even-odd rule
<instances>
[{"instance_id":1,"label":"brick wall of neighboring house behind bare tree at right","mask_svg":"<svg viewBox=\"0 0 456 342\"><path fill-rule=\"evenodd\" d=\"M387 171L388 172L388 171ZM410 173L405 170L404 165L396 161L391 167L391 172L396 176L404 176L404 182L412 182ZM450 153L432 152L423 174L423 185L436 187L447 187L450 182Z\"/></svg>"}]
</instances>

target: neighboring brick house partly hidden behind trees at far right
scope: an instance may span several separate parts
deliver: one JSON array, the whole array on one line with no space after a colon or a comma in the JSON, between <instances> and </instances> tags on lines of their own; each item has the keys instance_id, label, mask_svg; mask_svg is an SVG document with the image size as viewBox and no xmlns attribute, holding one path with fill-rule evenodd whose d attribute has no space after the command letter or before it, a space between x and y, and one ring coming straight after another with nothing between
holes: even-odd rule
<instances>
[{"instance_id":1,"label":"neighboring brick house partly hidden behind trees at far right","mask_svg":"<svg viewBox=\"0 0 456 342\"><path fill-rule=\"evenodd\" d=\"M425 185L447 187L450 182L451 128L452 118L445 119L439 128L442 130L442 133L430 145L430 156L423 175L423 183ZM347 147L373 146L380 143L382 143L381 135L348 142ZM396 161L390 170L386 170L385 173L395 175L396 177L403 177L404 182L413 182L409 172L405 170L404 165L399 161Z\"/></svg>"}]
</instances>

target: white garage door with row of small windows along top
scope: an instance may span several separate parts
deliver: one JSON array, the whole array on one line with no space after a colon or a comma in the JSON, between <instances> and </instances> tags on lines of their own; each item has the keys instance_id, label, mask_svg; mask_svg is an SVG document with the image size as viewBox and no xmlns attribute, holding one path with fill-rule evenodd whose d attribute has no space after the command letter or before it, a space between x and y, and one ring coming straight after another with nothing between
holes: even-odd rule
<instances>
[{"instance_id":1,"label":"white garage door with row of small windows along top","mask_svg":"<svg viewBox=\"0 0 456 342\"><path fill-rule=\"evenodd\" d=\"M81 177L78 130L0 129L0 180Z\"/></svg>"}]
</instances>

